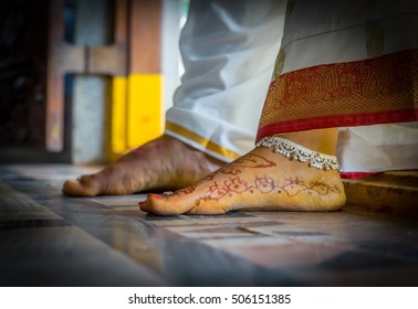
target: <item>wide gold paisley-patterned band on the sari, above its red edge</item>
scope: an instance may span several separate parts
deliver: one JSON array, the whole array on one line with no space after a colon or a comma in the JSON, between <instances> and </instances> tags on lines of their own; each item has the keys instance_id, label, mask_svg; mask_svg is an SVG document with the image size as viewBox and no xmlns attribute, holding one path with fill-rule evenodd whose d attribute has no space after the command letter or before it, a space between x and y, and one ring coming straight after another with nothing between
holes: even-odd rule
<instances>
[{"instance_id":1,"label":"wide gold paisley-patterned band on the sari, above its red edge","mask_svg":"<svg viewBox=\"0 0 418 309\"><path fill-rule=\"evenodd\" d=\"M260 128L311 117L414 109L417 76L417 50L286 73L270 85Z\"/></svg>"}]
</instances>

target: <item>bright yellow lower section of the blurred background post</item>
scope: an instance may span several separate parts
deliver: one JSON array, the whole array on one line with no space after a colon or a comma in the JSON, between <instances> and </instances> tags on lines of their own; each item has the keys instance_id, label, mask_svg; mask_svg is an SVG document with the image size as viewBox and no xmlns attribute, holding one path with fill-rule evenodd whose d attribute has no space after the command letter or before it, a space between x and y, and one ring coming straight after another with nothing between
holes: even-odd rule
<instances>
[{"instance_id":1,"label":"bright yellow lower section of the blurred background post","mask_svg":"<svg viewBox=\"0 0 418 309\"><path fill-rule=\"evenodd\" d=\"M113 78L107 158L126 151L164 132L165 108L160 74L130 74Z\"/></svg>"}]
</instances>

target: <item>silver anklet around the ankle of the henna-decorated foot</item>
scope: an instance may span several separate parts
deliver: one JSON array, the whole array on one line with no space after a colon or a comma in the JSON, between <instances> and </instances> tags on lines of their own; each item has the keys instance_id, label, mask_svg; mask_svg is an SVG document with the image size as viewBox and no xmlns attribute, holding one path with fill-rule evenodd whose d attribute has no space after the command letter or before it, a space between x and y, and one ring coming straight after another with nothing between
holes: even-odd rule
<instances>
[{"instance_id":1,"label":"silver anklet around the ankle of the henna-decorated foot","mask_svg":"<svg viewBox=\"0 0 418 309\"><path fill-rule=\"evenodd\" d=\"M339 171L339 164L337 158L321 153L285 138L270 136L264 137L255 143L255 147L274 147L274 152L281 153L289 159L294 159L301 162L309 162L310 167L317 168L320 170L336 170Z\"/></svg>"}]
</instances>

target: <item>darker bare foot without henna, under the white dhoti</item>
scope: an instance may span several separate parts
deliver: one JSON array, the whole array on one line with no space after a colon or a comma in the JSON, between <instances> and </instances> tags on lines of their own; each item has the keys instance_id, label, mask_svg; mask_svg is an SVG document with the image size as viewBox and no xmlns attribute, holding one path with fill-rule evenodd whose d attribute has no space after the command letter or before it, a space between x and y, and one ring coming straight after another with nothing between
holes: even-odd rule
<instances>
[{"instance_id":1,"label":"darker bare foot without henna, under the white dhoti","mask_svg":"<svg viewBox=\"0 0 418 309\"><path fill-rule=\"evenodd\" d=\"M102 171L64 183L66 195L122 195L150 189L176 190L217 170L222 161L186 143L161 136L121 158Z\"/></svg>"}]
</instances>

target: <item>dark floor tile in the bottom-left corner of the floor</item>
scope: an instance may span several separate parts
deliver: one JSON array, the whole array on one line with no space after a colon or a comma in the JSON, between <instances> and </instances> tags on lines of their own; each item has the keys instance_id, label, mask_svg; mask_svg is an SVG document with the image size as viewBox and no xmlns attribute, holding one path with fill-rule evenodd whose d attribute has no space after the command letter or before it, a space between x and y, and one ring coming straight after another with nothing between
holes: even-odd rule
<instances>
[{"instance_id":1,"label":"dark floor tile in the bottom-left corner of the floor","mask_svg":"<svg viewBox=\"0 0 418 309\"><path fill-rule=\"evenodd\" d=\"M169 285L74 226L1 231L0 244L1 286Z\"/></svg>"}]
</instances>

